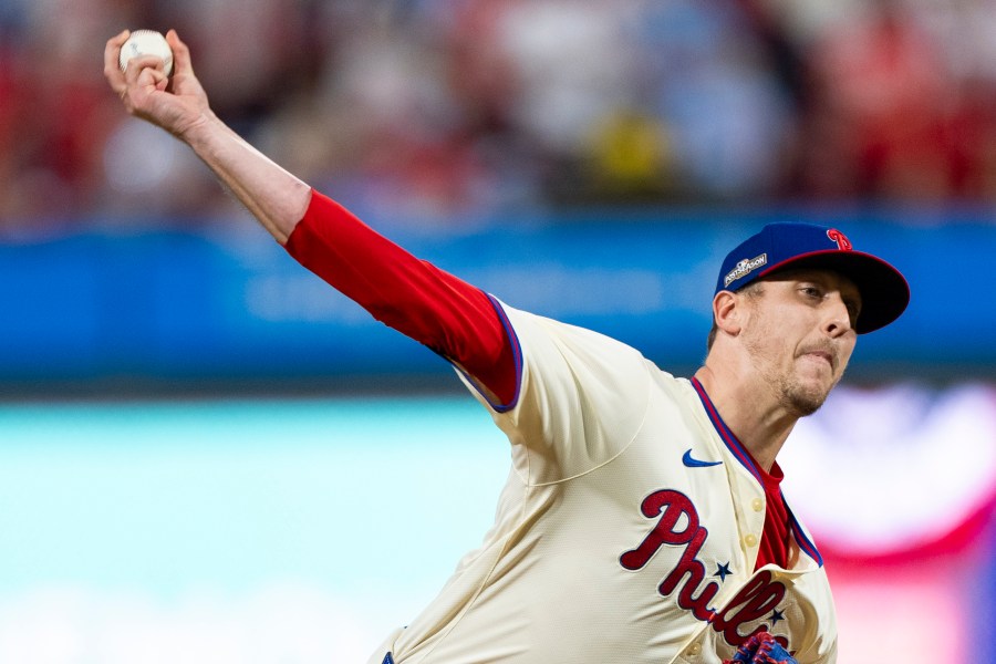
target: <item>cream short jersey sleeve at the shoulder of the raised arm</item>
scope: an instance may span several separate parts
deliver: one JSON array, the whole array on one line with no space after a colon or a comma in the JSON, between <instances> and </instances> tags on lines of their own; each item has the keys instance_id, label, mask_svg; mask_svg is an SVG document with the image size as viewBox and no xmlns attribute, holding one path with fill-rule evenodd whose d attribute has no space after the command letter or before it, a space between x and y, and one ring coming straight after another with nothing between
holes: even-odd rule
<instances>
[{"instance_id":1,"label":"cream short jersey sleeve at the shoulder of the raised arm","mask_svg":"<svg viewBox=\"0 0 996 664\"><path fill-rule=\"evenodd\" d=\"M477 398L512 443L523 481L569 479L623 452L646 415L649 361L591 330L498 304L520 359L519 391L508 408Z\"/></svg>"}]
</instances>

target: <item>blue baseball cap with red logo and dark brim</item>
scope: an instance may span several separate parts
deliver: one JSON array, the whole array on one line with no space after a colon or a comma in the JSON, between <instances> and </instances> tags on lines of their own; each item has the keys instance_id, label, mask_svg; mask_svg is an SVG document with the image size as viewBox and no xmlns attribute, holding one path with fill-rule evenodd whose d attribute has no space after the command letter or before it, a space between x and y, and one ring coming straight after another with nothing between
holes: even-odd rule
<instances>
[{"instance_id":1,"label":"blue baseball cap with red logo and dark brim","mask_svg":"<svg viewBox=\"0 0 996 664\"><path fill-rule=\"evenodd\" d=\"M899 270L871 253L855 251L836 228L811 224L768 224L730 251L719 269L716 292L737 291L788 269L833 270L861 293L858 334L884 328L910 303L910 286Z\"/></svg>"}]
</instances>

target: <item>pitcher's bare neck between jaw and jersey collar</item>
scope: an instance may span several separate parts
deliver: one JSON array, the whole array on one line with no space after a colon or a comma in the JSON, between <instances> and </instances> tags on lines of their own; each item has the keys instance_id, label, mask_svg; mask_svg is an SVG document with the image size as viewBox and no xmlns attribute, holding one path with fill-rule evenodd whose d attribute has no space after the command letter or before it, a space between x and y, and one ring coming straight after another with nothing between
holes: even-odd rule
<instances>
[{"instance_id":1,"label":"pitcher's bare neck between jaw and jersey collar","mask_svg":"<svg viewBox=\"0 0 996 664\"><path fill-rule=\"evenodd\" d=\"M770 473L775 457L799 421L778 403L770 386L744 380L734 372L706 365L695 372L726 426L747 448L754 460Z\"/></svg>"}]
</instances>

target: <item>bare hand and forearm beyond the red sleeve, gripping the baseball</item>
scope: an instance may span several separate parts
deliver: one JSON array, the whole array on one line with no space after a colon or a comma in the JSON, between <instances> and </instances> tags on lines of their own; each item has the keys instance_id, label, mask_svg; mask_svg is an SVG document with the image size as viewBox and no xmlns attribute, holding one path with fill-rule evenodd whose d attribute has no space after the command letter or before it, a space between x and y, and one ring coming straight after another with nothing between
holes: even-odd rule
<instances>
[{"instance_id":1,"label":"bare hand and forearm beyond the red sleeve, gripping the baseball","mask_svg":"<svg viewBox=\"0 0 996 664\"><path fill-rule=\"evenodd\" d=\"M194 74L190 50L175 30L166 33L174 74L167 79L154 55L134 58L122 72L121 46L128 31L104 49L104 76L128 113L157 125L187 145L278 242L286 245L311 200L311 187L232 132L211 111Z\"/></svg>"}]
</instances>

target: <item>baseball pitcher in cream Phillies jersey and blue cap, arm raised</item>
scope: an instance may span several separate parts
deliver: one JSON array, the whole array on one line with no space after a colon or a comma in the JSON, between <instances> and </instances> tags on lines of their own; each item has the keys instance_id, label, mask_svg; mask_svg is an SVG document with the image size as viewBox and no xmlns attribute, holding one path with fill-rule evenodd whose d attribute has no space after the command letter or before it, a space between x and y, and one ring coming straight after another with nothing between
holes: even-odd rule
<instances>
[{"instance_id":1,"label":"baseball pitcher in cream Phillies jersey and blue cap, arm raised","mask_svg":"<svg viewBox=\"0 0 996 664\"><path fill-rule=\"evenodd\" d=\"M766 226L718 267L708 354L675 376L416 259L230 131L175 31L172 76L154 55L122 71L127 37L105 48L127 112L186 143L294 259L450 362L508 436L494 526L371 664L836 661L823 560L777 456L858 335L905 309L895 268L837 229Z\"/></svg>"}]
</instances>

